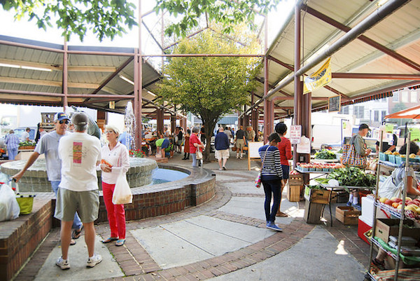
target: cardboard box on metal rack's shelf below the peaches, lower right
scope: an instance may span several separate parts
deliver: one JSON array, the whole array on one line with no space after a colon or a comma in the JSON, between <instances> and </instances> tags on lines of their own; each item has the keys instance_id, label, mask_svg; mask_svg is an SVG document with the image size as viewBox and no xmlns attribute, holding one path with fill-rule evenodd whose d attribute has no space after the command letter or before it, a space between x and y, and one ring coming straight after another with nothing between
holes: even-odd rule
<instances>
[{"instance_id":1,"label":"cardboard box on metal rack's shelf below the peaches, lower right","mask_svg":"<svg viewBox=\"0 0 420 281\"><path fill-rule=\"evenodd\" d=\"M402 235L420 239L420 228L414 226L414 221L411 219L405 219L404 224L408 226L413 226L413 228L402 228ZM376 229L374 235L377 238L381 238L386 243L389 241L389 236L398 236L398 226L400 225L399 219L377 219L376 220Z\"/></svg>"}]
</instances>

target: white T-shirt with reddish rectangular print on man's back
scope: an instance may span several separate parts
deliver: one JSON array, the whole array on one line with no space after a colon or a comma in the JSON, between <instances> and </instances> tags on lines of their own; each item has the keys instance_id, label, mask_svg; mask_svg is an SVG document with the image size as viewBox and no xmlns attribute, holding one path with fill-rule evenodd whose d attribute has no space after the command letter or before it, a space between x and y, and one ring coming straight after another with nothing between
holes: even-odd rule
<instances>
[{"instance_id":1,"label":"white T-shirt with reddish rectangular print on man's back","mask_svg":"<svg viewBox=\"0 0 420 281\"><path fill-rule=\"evenodd\" d=\"M73 132L59 140L58 153L62 160L60 188L71 191L98 189L96 166L101 160L101 144L97 137Z\"/></svg>"}]
</instances>

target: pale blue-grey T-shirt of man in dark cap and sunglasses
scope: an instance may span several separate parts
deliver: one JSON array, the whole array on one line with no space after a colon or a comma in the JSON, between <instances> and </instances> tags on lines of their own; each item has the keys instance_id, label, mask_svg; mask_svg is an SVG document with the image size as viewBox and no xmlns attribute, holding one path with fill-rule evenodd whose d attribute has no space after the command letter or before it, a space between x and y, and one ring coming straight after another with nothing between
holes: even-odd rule
<instances>
[{"instance_id":1,"label":"pale blue-grey T-shirt of man in dark cap and sunglasses","mask_svg":"<svg viewBox=\"0 0 420 281\"><path fill-rule=\"evenodd\" d=\"M45 164L47 166L47 174L49 181L59 181L61 179L61 160L58 158L58 142L59 139L68 135L57 134L56 131L48 132L36 144L35 152L45 154Z\"/></svg>"}]
</instances>

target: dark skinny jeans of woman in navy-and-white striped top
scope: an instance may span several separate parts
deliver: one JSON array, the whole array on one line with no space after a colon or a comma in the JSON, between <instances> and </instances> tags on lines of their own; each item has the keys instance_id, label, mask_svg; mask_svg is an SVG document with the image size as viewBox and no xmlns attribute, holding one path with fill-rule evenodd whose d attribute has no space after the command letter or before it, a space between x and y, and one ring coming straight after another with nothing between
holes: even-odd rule
<instances>
[{"instance_id":1,"label":"dark skinny jeans of woman in navy-and-white striped top","mask_svg":"<svg viewBox=\"0 0 420 281\"><path fill-rule=\"evenodd\" d=\"M261 180L262 186L264 186L264 193L265 193L265 202L264 202L264 210L265 210L265 219L271 222L274 222L276 219L276 212L279 210L279 205L281 201L281 179L272 179L272 180ZM272 196L274 198L274 202L270 212L270 204Z\"/></svg>"}]
</instances>

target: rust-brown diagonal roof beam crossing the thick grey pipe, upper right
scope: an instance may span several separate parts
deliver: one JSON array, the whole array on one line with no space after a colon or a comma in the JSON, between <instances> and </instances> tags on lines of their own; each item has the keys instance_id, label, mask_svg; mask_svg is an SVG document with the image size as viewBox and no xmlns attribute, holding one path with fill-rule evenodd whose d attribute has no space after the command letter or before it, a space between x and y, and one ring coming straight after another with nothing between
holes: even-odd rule
<instances>
[{"instance_id":1,"label":"rust-brown diagonal roof beam crossing the thick grey pipe, upper right","mask_svg":"<svg viewBox=\"0 0 420 281\"><path fill-rule=\"evenodd\" d=\"M302 4L302 9L307 11L310 15L313 15L315 18L318 18L320 20L323 20L324 22L327 22L328 24L332 25L333 27L336 27L338 29L341 29L344 32L350 32L351 28L347 27L346 25L343 25L341 22L337 22L337 20L334 20L328 15L324 15L323 13L320 13L316 11L314 8L311 8L305 4ZM381 45L377 41L374 41L365 35L358 36L358 39L360 41L363 41L367 43L367 45L372 46L373 48L376 48L377 50L380 50L381 52L386 53L386 55L389 55L390 57L393 57L395 60L398 60L402 62L403 64L408 65L409 67L412 67L413 69L416 69L416 71L420 71L420 64L417 64L416 62L413 62L412 60L409 60L407 57L404 57L403 55L400 55L399 53L395 52L395 50L391 50L390 48L387 48L384 45Z\"/></svg>"}]
</instances>

